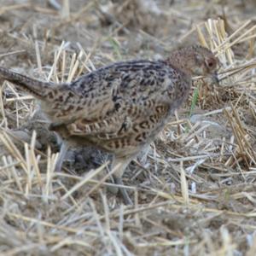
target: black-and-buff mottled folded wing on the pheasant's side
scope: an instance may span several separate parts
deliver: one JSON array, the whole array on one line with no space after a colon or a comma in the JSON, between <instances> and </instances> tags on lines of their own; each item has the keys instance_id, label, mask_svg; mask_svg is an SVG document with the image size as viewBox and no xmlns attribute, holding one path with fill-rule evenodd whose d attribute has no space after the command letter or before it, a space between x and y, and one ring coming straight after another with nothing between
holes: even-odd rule
<instances>
[{"instance_id":1,"label":"black-and-buff mottled folded wing on the pheasant's side","mask_svg":"<svg viewBox=\"0 0 256 256\"><path fill-rule=\"evenodd\" d=\"M126 61L80 77L68 85L79 99L64 102L67 130L71 136L109 139L128 131L138 118L167 113L175 96L173 73L162 61Z\"/></svg>"}]
</instances>

